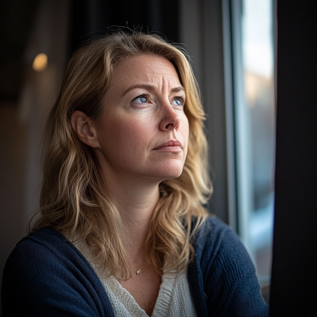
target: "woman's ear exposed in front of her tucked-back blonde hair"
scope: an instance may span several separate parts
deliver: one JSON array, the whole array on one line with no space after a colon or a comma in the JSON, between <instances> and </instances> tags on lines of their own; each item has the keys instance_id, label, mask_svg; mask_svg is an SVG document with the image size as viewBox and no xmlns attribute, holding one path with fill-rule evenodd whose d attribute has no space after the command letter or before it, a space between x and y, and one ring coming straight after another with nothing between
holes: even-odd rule
<instances>
[{"instance_id":1,"label":"woman's ear exposed in front of her tucked-back blonde hair","mask_svg":"<svg viewBox=\"0 0 317 317\"><path fill-rule=\"evenodd\" d=\"M94 122L85 113L76 110L70 120L74 133L76 133L81 142L94 148L100 148Z\"/></svg>"}]
</instances>

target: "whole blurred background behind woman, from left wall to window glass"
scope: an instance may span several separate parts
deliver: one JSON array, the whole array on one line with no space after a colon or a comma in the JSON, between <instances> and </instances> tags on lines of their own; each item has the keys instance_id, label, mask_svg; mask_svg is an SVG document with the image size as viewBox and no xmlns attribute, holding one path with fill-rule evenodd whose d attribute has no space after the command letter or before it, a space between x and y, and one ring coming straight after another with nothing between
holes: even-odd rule
<instances>
[{"instance_id":1,"label":"whole blurred background behind woman, from left wall to window glass","mask_svg":"<svg viewBox=\"0 0 317 317\"><path fill-rule=\"evenodd\" d=\"M191 56L207 113L214 194L269 301L275 170L273 0L0 2L0 272L38 208L41 141L72 52L109 26L154 32Z\"/></svg>"}]
</instances>

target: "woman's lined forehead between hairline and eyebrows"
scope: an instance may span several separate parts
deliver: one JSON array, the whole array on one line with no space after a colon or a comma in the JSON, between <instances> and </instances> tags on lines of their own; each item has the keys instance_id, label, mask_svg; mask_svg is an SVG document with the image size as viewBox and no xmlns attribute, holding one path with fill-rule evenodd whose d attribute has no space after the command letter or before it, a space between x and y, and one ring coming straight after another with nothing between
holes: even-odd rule
<instances>
[{"instance_id":1,"label":"woman's lined forehead between hairline and eyebrows","mask_svg":"<svg viewBox=\"0 0 317 317\"><path fill-rule=\"evenodd\" d=\"M182 86L176 69L170 61L149 54L127 57L114 71L112 77L112 84L116 85L151 82L161 86L162 81L168 86Z\"/></svg>"}]
</instances>

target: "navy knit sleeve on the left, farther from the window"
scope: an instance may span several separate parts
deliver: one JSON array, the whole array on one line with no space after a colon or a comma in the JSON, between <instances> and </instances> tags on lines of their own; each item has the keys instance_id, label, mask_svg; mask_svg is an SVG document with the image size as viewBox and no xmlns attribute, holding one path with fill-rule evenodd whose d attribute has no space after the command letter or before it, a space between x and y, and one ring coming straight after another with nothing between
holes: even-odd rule
<instances>
[{"instance_id":1,"label":"navy knit sleeve on the left, farther from the window","mask_svg":"<svg viewBox=\"0 0 317 317\"><path fill-rule=\"evenodd\" d=\"M88 262L60 237L48 239L29 236L10 254L3 271L3 317L113 316Z\"/></svg>"}]
</instances>

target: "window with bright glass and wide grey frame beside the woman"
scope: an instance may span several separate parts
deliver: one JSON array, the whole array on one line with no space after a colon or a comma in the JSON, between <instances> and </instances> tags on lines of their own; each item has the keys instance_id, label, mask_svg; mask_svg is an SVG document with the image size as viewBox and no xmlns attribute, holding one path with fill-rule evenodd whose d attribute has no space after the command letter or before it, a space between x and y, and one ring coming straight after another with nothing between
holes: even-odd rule
<instances>
[{"instance_id":1,"label":"window with bright glass and wide grey frame beside the woman","mask_svg":"<svg viewBox=\"0 0 317 317\"><path fill-rule=\"evenodd\" d=\"M180 1L180 40L207 112L208 207L240 235L264 297L274 205L274 1Z\"/></svg>"}]
</instances>

